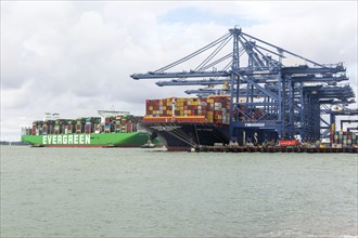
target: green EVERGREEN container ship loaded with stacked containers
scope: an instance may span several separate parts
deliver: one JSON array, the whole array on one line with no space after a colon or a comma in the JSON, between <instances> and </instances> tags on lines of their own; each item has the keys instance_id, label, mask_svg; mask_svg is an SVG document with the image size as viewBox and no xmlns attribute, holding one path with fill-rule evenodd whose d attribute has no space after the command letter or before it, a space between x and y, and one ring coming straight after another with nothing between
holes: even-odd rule
<instances>
[{"instance_id":1,"label":"green EVERGREEN container ship loaded with stacked containers","mask_svg":"<svg viewBox=\"0 0 358 238\"><path fill-rule=\"evenodd\" d=\"M139 130L142 117L110 110L99 110L99 115L60 119L59 114L46 114L31 128L23 128L21 138L35 147L140 147L149 142L149 134Z\"/></svg>"}]
</instances>

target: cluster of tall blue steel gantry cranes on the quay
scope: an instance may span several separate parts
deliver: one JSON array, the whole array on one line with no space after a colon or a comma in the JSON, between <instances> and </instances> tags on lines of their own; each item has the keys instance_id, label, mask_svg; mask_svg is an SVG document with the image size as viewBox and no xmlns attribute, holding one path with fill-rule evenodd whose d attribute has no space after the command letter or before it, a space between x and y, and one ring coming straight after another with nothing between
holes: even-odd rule
<instances>
[{"instance_id":1,"label":"cluster of tall blue steel gantry cranes on the quay","mask_svg":"<svg viewBox=\"0 0 358 238\"><path fill-rule=\"evenodd\" d=\"M183 63L192 68L183 70ZM169 79L157 81L159 87L205 87L184 91L197 96L230 96L231 141L247 127L274 130L279 138L319 140L330 128L322 111L355 103L350 85L340 84L348 80L345 72L343 63L320 64L234 27L167 66L131 78ZM255 109L263 115L253 115Z\"/></svg>"}]
</instances>

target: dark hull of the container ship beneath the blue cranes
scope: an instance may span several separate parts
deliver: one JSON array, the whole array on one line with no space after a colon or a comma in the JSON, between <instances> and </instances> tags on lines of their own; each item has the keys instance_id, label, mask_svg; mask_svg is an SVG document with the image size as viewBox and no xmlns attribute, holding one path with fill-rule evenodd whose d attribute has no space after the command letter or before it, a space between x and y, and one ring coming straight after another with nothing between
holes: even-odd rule
<instances>
[{"instance_id":1,"label":"dark hull of the container ship beneath the blue cranes","mask_svg":"<svg viewBox=\"0 0 358 238\"><path fill-rule=\"evenodd\" d=\"M213 123L142 123L151 137L157 136L168 150L189 151L192 147L229 143L229 125Z\"/></svg>"}]
</instances>

